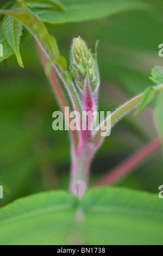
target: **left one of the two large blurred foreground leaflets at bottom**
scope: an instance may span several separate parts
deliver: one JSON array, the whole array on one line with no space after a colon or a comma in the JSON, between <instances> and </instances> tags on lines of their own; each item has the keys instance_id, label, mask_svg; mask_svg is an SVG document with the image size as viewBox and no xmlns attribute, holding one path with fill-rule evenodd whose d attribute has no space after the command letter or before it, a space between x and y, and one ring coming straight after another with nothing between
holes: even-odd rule
<instances>
[{"instance_id":1,"label":"left one of the two large blurred foreground leaflets at bottom","mask_svg":"<svg viewBox=\"0 0 163 256\"><path fill-rule=\"evenodd\" d=\"M0 243L61 244L73 225L76 205L76 198L61 191L17 200L0 212Z\"/></svg>"}]
</instances>

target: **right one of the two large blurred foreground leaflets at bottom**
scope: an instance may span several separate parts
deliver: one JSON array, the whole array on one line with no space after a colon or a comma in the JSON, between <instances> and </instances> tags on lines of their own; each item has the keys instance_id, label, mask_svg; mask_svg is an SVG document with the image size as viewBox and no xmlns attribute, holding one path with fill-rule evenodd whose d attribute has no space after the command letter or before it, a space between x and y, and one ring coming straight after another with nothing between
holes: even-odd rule
<instances>
[{"instance_id":1,"label":"right one of the two large blurred foreground leaflets at bottom","mask_svg":"<svg viewBox=\"0 0 163 256\"><path fill-rule=\"evenodd\" d=\"M158 194L103 187L84 200L88 245L162 244L163 204Z\"/></svg>"}]
</instances>

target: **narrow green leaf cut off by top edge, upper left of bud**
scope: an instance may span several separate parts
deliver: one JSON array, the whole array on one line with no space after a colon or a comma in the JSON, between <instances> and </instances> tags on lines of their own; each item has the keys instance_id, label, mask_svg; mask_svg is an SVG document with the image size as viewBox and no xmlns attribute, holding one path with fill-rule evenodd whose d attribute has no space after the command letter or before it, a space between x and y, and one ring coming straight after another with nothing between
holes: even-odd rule
<instances>
[{"instance_id":1,"label":"narrow green leaf cut off by top edge, upper left of bud","mask_svg":"<svg viewBox=\"0 0 163 256\"><path fill-rule=\"evenodd\" d=\"M53 9L60 9L60 10L66 10L66 8L64 7L64 5L58 1L58 0L46 0L46 1L42 1L42 0L26 0L24 1L24 3L28 3L30 7L33 8L42 8L42 9L46 9L46 8L53 8Z\"/></svg>"}]
</instances>

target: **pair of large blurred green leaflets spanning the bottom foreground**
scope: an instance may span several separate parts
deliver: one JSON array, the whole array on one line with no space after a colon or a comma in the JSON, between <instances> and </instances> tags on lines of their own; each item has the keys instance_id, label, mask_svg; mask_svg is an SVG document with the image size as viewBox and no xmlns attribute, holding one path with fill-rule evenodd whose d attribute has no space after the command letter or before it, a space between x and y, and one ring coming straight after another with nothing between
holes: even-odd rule
<instances>
[{"instance_id":1,"label":"pair of large blurred green leaflets spanning the bottom foreground","mask_svg":"<svg viewBox=\"0 0 163 256\"><path fill-rule=\"evenodd\" d=\"M36 194L0 210L1 245L162 245L157 194L103 187L79 202L68 192Z\"/></svg>"}]
</instances>

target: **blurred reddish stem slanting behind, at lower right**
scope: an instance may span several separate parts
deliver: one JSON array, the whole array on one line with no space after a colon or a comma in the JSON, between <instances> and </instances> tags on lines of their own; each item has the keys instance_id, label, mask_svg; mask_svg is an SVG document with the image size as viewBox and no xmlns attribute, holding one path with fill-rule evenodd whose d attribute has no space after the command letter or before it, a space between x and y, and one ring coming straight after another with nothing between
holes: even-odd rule
<instances>
[{"instance_id":1,"label":"blurred reddish stem slanting behind, at lower right","mask_svg":"<svg viewBox=\"0 0 163 256\"><path fill-rule=\"evenodd\" d=\"M139 152L131 156L128 160L124 161L120 166L117 166L109 174L104 176L103 179L97 182L95 186L105 186L115 183L121 179L124 175L136 168L147 157L152 155L157 149L161 147L161 139L156 138L154 141L146 145Z\"/></svg>"}]
</instances>

